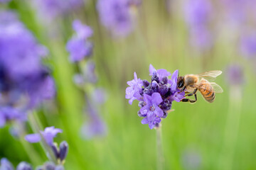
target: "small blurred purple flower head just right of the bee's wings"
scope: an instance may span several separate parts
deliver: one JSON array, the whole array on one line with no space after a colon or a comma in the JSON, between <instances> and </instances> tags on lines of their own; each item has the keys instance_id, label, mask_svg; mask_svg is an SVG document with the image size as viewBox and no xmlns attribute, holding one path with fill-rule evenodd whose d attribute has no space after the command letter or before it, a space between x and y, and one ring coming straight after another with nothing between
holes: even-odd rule
<instances>
[{"instance_id":1,"label":"small blurred purple flower head just right of the bee's wings","mask_svg":"<svg viewBox=\"0 0 256 170\"><path fill-rule=\"evenodd\" d=\"M225 76L228 84L242 85L245 82L245 75L240 64L229 64L225 69Z\"/></svg>"}]
</instances>

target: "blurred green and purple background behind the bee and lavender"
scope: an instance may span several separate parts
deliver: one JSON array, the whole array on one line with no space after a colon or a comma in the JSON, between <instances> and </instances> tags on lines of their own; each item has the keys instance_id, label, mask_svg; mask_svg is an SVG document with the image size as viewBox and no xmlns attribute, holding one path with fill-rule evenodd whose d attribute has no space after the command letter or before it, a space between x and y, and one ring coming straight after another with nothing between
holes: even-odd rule
<instances>
[{"instance_id":1,"label":"blurred green and purple background behind the bee and lavender","mask_svg":"<svg viewBox=\"0 0 256 170\"><path fill-rule=\"evenodd\" d=\"M174 102L175 111L162 121L164 169L256 169L255 1L81 0L65 10L63 1L1 0L0 10L16 13L48 48L42 62L53 75L56 95L31 114L41 129L63 129L55 141L70 145L65 169L156 169L156 130L142 125L137 102L131 106L125 98L134 72L150 79L149 64L180 75L223 71L216 83L224 92L214 103L201 95L194 104ZM92 56L82 62L70 62L66 49L75 19L94 32ZM74 75L92 61L97 82L81 87ZM87 96L97 88L105 91L96 96L104 103L90 106ZM88 135L90 107L97 108L103 130ZM29 121L25 134L33 129ZM0 157L14 165L46 162L41 145L11 133L13 125L0 129Z\"/></svg>"}]
</instances>

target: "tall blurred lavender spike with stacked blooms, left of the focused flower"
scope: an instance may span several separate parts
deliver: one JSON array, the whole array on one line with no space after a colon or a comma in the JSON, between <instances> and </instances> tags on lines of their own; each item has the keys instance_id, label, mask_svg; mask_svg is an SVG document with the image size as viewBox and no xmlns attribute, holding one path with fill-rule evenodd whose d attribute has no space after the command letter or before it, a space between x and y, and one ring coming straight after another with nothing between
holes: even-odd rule
<instances>
[{"instance_id":1,"label":"tall blurred lavender spike with stacked blooms, left of the focused flower","mask_svg":"<svg viewBox=\"0 0 256 170\"><path fill-rule=\"evenodd\" d=\"M83 25L80 21L73 21L75 35L67 43L67 50L70 52L70 61L78 64L80 72L75 74L74 82L85 94L87 121L82 125L81 135L85 140L96 136L104 136L107 127L100 118L99 107L105 103L105 90L95 88L97 76L95 74L95 62L91 59L82 63L85 57L92 54L92 43L87 40L92 36L93 30ZM80 63L79 63L80 62ZM90 88L90 86L93 86ZM90 88L92 91L87 91Z\"/></svg>"}]
</instances>

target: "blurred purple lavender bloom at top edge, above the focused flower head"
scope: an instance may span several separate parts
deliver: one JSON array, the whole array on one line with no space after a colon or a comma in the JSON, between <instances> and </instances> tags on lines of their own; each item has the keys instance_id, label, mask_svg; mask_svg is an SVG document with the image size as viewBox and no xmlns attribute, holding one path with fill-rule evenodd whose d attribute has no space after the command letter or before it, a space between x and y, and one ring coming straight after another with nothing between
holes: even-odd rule
<instances>
[{"instance_id":1,"label":"blurred purple lavender bloom at top edge, above the focused flower head","mask_svg":"<svg viewBox=\"0 0 256 170\"><path fill-rule=\"evenodd\" d=\"M134 26L130 13L131 0L98 0L97 11L103 26L116 37L125 37Z\"/></svg>"}]
</instances>

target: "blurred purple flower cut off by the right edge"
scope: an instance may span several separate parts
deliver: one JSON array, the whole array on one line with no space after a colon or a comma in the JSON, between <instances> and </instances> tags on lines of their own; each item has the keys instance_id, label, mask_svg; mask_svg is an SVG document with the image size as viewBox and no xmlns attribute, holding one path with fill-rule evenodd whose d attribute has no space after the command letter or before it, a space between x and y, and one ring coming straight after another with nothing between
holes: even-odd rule
<instances>
[{"instance_id":1,"label":"blurred purple flower cut off by the right edge","mask_svg":"<svg viewBox=\"0 0 256 170\"><path fill-rule=\"evenodd\" d=\"M244 35L240 40L242 56L247 59L256 58L256 34Z\"/></svg>"}]
</instances>

